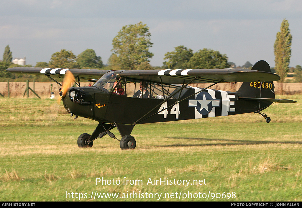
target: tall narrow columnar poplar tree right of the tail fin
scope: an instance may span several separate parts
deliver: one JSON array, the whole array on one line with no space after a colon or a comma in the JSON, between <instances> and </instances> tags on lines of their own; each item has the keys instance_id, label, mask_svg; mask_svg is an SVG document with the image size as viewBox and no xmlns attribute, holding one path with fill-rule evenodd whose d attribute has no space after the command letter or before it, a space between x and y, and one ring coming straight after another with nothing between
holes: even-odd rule
<instances>
[{"instance_id":1,"label":"tall narrow columnar poplar tree right of the tail fin","mask_svg":"<svg viewBox=\"0 0 302 208\"><path fill-rule=\"evenodd\" d=\"M284 82L288 73L288 65L291 58L291 40L292 36L287 20L283 20L280 27L280 32L276 35L274 44L275 53L275 70L281 77L278 82Z\"/></svg>"}]
</instances>

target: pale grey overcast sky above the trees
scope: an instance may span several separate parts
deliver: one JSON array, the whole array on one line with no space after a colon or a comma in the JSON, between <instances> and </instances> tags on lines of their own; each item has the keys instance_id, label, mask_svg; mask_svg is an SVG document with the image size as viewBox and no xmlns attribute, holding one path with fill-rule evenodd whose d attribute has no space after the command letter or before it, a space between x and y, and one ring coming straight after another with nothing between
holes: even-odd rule
<instances>
[{"instance_id":1,"label":"pale grey overcast sky above the trees","mask_svg":"<svg viewBox=\"0 0 302 208\"><path fill-rule=\"evenodd\" d=\"M9 45L13 58L26 56L33 66L61 49L93 49L107 63L117 32L142 21L150 28L153 66L184 45L218 50L237 66L266 60L273 67L284 18L293 36L290 66L302 65L301 0L1 0L0 59Z\"/></svg>"}]
</instances>

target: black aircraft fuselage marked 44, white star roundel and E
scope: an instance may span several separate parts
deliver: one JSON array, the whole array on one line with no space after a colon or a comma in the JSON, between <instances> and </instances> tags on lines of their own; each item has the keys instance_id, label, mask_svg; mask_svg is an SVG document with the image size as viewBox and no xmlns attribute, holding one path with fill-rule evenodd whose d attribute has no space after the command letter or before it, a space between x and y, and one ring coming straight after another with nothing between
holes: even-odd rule
<instances>
[{"instance_id":1,"label":"black aircraft fuselage marked 44, white star roundel and E","mask_svg":"<svg viewBox=\"0 0 302 208\"><path fill-rule=\"evenodd\" d=\"M255 112L272 104L271 102L240 100L240 94L237 92L215 89L201 91L202 88L197 87L185 89L186 92L178 99L180 101L184 99L181 102L178 102L177 99L168 99L163 102L164 99L133 98L109 94L96 87L74 87L66 94L63 103L67 111L75 115L103 123L121 124L235 115ZM72 91L75 91L82 99L74 100L70 96ZM152 110L153 108L155 109ZM141 120L138 121L139 119Z\"/></svg>"}]
</instances>

